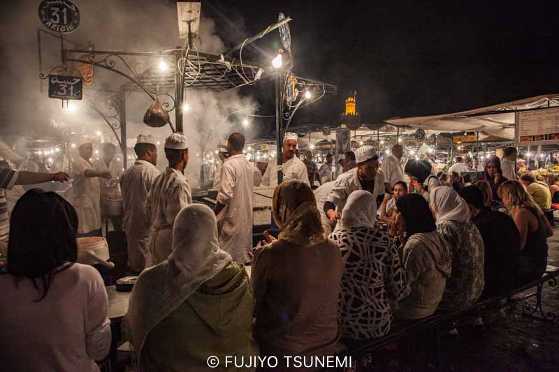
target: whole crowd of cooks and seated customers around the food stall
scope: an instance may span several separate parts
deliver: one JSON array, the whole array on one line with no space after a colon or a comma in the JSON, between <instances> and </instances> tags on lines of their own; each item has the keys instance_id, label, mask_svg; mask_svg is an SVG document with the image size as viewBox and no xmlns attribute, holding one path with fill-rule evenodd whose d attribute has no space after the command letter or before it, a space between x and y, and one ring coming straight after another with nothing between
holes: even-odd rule
<instances>
[{"instance_id":1,"label":"whole crowd of cooks and seated customers around the food stall","mask_svg":"<svg viewBox=\"0 0 559 372\"><path fill-rule=\"evenodd\" d=\"M164 172L155 168L153 139L140 135L138 160L119 175L129 265L139 274L124 325L139 371L202 371L210 355L280 364L286 355L334 355L437 308L467 308L544 274L553 230L540 199L554 198L542 198L527 174L504 177L499 158L488 158L479 180L466 185L463 168L451 168L447 183L426 161L402 168L399 144L380 167L375 149L362 146L333 177L300 161L293 133L284 137L282 168L273 159L261 180L275 186L279 234L265 232L253 247L256 168L244 146L241 133L228 137L213 210L192 201L180 133L166 139ZM103 170L89 163L91 151L80 146L74 198L100 193L99 177L112 179L110 162ZM45 180L0 169L2 189ZM103 281L75 263L75 237L100 228L94 204L83 198L73 207L37 189L17 201L0 276L6 370L96 371L94 361L107 355Z\"/></svg>"}]
</instances>

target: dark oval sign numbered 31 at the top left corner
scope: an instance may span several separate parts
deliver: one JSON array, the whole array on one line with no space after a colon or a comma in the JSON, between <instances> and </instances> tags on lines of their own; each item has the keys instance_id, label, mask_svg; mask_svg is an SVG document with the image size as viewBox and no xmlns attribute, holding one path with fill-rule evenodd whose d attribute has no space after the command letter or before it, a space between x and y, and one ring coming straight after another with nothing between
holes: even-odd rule
<instances>
[{"instance_id":1,"label":"dark oval sign numbered 31 at the top left corner","mask_svg":"<svg viewBox=\"0 0 559 372\"><path fill-rule=\"evenodd\" d=\"M80 25L80 10L69 0L43 0L39 19L50 31L68 34Z\"/></svg>"}]
</instances>

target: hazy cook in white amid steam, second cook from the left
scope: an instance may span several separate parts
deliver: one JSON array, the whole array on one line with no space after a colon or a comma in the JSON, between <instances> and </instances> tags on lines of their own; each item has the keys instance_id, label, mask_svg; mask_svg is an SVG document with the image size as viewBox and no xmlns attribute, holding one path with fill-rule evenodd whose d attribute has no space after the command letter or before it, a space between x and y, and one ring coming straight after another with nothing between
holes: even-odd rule
<instances>
[{"instance_id":1,"label":"hazy cook in white amid steam, second cook from the left","mask_svg":"<svg viewBox=\"0 0 559 372\"><path fill-rule=\"evenodd\" d=\"M110 180L99 179L99 188L101 190L101 223L105 221L108 216L106 201L108 199L118 199L120 197L118 192L118 181L122 176L122 161L117 161L115 154L117 147L107 142L103 144L103 156L101 159L93 162L95 170L109 171ZM110 218L112 227L115 231L122 231L122 218L113 216Z\"/></svg>"}]
</instances>

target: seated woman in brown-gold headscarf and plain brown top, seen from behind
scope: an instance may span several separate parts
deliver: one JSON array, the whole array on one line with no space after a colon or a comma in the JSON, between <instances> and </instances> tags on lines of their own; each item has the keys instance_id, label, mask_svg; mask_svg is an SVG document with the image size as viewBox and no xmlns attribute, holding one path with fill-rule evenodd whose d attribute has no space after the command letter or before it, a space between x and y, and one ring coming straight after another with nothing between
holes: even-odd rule
<instances>
[{"instance_id":1,"label":"seated woman in brown-gold headscarf and plain brown top, seen from behind","mask_svg":"<svg viewBox=\"0 0 559 372\"><path fill-rule=\"evenodd\" d=\"M284 181L274 192L277 240L254 253L254 336L261 356L333 355L339 338L340 248L324 235L314 194L302 181ZM260 244L259 244L260 245ZM266 369L263 369L266 370ZM291 364L291 370L297 371ZM260 371L260 370L259 370Z\"/></svg>"}]
</instances>

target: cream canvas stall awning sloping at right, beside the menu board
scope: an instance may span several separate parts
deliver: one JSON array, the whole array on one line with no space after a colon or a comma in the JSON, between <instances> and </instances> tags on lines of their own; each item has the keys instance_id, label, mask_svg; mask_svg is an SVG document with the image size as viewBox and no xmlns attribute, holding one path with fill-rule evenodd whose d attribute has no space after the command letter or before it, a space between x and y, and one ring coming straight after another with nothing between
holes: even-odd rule
<instances>
[{"instance_id":1,"label":"cream canvas stall awning sloping at right, beside the menu board","mask_svg":"<svg viewBox=\"0 0 559 372\"><path fill-rule=\"evenodd\" d=\"M544 94L543 96L524 98L452 114L387 119L385 122L395 126L423 128L432 131L481 131L486 135L514 140L514 112L516 110L533 110L556 106L559 106L559 94Z\"/></svg>"}]
</instances>

